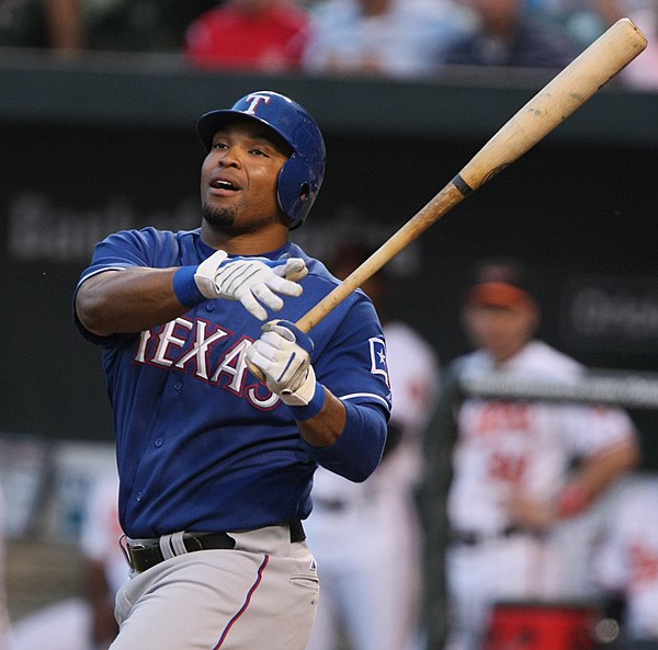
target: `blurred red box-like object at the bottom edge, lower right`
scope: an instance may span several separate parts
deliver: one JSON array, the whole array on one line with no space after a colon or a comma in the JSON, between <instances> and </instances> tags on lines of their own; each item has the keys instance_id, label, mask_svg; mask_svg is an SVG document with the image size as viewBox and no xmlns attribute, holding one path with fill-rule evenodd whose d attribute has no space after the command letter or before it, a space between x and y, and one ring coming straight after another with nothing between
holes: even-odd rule
<instances>
[{"instance_id":1,"label":"blurred red box-like object at the bottom edge, lower right","mask_svg":"<svg viewBox=\"0 0 658 650\"><path fill-rule=\"evenodd\" d=\"M483 650L593 650L598 620L590 603L498 603Z\"/></svg>"}]
</instances>

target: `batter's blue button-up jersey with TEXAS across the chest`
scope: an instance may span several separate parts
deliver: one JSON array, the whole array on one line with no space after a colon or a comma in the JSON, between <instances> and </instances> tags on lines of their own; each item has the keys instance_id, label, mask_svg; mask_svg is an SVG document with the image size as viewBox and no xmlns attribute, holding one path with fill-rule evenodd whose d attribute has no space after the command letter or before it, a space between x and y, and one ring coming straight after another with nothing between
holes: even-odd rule
<instances>
[{"instance_id":1,"label":"batter's blue button-up jersey with TEXAS across the chest","mask_svg":"<svg viewBox=\"0 0 658 650\"><path fill-rule=\"evenodd\" d=\"M195 265L214 251L198 229L122 231L100 242L78 287L111 269ZM338 281L287 243L266 256L303 258L300 297L272 318L295 322ZM246 347L262 322L240 303L208 300L175 320L133 334L82 334L102 346L121 478L120 520L133 538L175 531L237 531L306 518L318 464L362 480L359 463L381 456L377 436L343 435L316 448L290 409L251 375ZM343 401L388 418L390 391L382 327L355 292L310 332L318 381ZM356 477L356 478L355 478Z\"/></svg>"}]
</instances>

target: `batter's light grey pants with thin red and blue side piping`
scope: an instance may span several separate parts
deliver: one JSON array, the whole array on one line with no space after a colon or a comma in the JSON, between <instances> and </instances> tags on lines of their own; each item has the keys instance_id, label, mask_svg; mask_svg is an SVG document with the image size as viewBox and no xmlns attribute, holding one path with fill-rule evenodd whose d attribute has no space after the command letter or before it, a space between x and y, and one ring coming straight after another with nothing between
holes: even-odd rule
<instances>
[{"instance_id":1,"label":"batter's light grey pants with thin red and blue side piping","mask_svg":"<svg viewBox=\"0 0 658 650\"><path fill-rule=\"evenodd\" d=\"M181 555L118 592L111 650L305 650L319 584L287 526L231 533L232 550Z\"/></svg>"}]
</instances>

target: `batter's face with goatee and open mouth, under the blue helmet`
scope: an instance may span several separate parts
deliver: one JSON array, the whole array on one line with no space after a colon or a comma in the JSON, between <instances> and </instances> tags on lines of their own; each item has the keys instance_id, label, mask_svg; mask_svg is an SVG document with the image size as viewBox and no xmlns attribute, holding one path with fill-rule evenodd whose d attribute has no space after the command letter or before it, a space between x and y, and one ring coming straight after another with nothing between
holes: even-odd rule
<instances>
[{"instance_id":1,"label":"batter's face with goatee and open mouth, under the blue helmet","mask_svg":"<svg viewBox=\"0 0 658 650\"><path fill-rule=\"evenodd\" d=\"M215 134L201 168L201 202L212 230L226 235L281 225L276 182L288 159L266 127L239 122Z\"/></svg>"}]
</instances>

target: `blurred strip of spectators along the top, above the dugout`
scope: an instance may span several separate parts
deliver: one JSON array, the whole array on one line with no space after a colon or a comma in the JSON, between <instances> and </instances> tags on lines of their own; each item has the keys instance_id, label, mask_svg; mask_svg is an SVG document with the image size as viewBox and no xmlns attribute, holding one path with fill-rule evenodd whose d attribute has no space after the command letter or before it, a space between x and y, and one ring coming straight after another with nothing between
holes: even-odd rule
<instances>
[{"instance_id":1,"label":"blurred strip of spectators along the top, above the dugout","mask_svg":"<svg viewBox=\"0 0 658 650\"><path fill-rule=\"evenodd\" d=\"M440 76L559 69L622 16L649 37L622 79L658 85L655 0L3 0L0 50L180 54L202 69Z\"/></svg>"}]
</instances>

